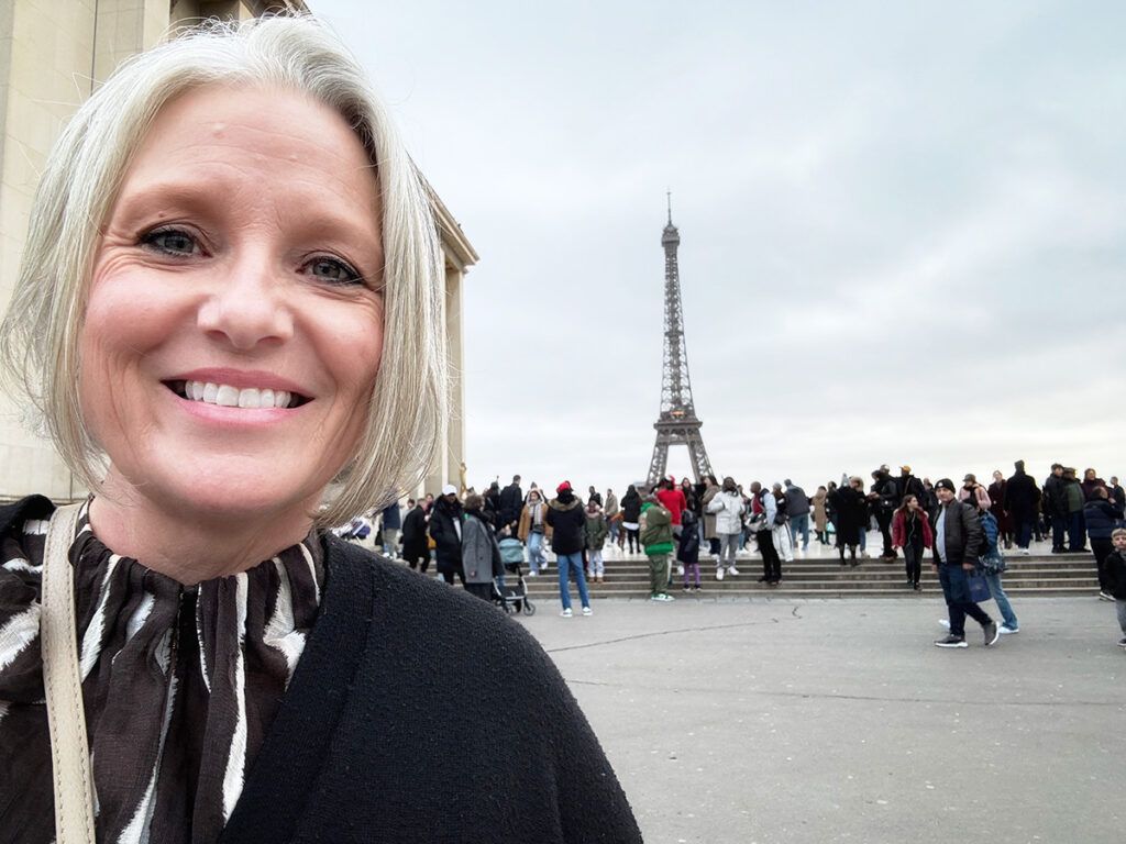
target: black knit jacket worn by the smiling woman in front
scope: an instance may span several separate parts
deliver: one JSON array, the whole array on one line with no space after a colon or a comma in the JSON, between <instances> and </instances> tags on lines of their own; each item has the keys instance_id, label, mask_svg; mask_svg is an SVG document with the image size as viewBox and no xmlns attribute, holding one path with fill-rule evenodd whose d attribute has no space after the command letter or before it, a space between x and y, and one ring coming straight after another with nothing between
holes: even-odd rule
<instances>
[{"instance_id":1,"label":"black knit jacket worn by the smiling woman in front","mask_svg":"<svg viewBox=\"0 0 1126 844\"><path fill-rule=\"evenodd\" d=\"M0 509L0 531L41 502ZM324 542L320 616L223 844L642 839L527 631L462 590Z\"/></svg>"}]
</instances>

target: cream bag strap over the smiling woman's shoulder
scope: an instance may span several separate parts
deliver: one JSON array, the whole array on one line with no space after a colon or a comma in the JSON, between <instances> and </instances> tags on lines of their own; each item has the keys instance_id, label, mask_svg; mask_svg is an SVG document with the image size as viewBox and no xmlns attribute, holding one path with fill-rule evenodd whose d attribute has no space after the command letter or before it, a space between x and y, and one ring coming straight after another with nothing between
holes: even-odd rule
<instances>
[{"instance_id":1,"label":"cream bag strap over the smiling woman's shoulder","mask_svg":"<svg viewBox=\"0 0 1126 844\"><path fill-rule=\"evenodd\" d=\"M66 556L81 506L70 504L54 512L43 554L39 639L55 781L56 844L95 844L93 779L74 621L74 569Z\"/></svg>"}]
</instances>

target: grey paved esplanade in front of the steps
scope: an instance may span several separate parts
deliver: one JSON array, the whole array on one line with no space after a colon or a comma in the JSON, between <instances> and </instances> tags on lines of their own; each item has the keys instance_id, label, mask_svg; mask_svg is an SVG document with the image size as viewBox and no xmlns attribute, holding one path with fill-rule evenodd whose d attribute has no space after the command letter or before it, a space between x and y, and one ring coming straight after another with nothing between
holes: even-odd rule
<instances>
[{"instance_id":1,"label":"grey paved esplanade in front of the steps","mask_svg":"<svg viewBox=\"0 0 1126 844\"><path fill-rule=\"evenodd\" d=\"M540 604L520 623L649 844L1121 842L1114 605L1015 609L1020 634L984 648L971 623L964 650L931 645L937 598L599 601L572 619Z\"/></svg>"}]
</instances>

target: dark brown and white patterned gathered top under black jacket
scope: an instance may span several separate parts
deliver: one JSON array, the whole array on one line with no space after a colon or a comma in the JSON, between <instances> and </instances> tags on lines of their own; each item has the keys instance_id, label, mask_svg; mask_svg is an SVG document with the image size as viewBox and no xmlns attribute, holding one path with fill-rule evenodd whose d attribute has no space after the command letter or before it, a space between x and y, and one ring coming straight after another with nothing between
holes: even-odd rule
<instances>
[{"instance_id":1,"label":"dark brown and white patterned gathered top under black jacket","mask_svg":"<svg viewBox=\"0 0 1126 844\"><path fill-rule=\"evenodd\" d=\"M102 844L211 844L231 816L316 619L314 533L184 586L79 519L70 549ZM0 842L54 838L39 585L46 521L0 545Z\"/></svg>"}]
</instances>

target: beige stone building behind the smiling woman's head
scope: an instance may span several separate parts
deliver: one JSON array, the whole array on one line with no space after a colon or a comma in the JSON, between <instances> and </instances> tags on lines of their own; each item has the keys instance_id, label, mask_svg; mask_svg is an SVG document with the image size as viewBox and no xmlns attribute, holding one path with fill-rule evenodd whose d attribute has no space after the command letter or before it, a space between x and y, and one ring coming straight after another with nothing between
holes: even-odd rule
<instances>
[{"instance_id":1,"label":"beige stone building behind the smiling woman's head","mask_svg":"<svg viewBox=\"0 0 1126 844\"><path fill-rule=\"evenodd\" d=\"M97 80L177 26L284 10L309 11L303 0L0 0L0 306L7 306L15 285L38 173ZM477 254L431 195L446 255L445 325L455 372L446 448L426 483L436 491L457 484L464 459L462 279ZM26 430L21 416L23 410L0 394L0 501L32 492L55 500L83 496L51 445Z\"/></svg>"}]
</instances>

